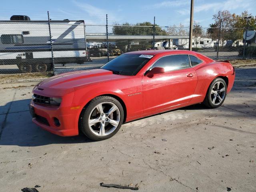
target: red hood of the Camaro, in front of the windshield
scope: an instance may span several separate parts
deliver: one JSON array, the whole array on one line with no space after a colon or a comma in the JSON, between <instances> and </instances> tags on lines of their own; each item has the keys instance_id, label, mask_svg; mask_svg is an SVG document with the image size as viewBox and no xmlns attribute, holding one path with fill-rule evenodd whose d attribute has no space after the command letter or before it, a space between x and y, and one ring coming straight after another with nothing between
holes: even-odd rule
<instances>
[{"instance_id":1,"label":"red hood of the Camaro, in front of the windshield","mask_svg":"<svg viewBox=\"0 0 256 192\"><path fill-rule=\"evenodd\" d=\"M47 78L43 80L38 87L56 89L78 88L86 84L94 84L125 77L127 76L116 75L113 74L112 71L104 69L75 71Z\"/></svg>"}]
</instances>

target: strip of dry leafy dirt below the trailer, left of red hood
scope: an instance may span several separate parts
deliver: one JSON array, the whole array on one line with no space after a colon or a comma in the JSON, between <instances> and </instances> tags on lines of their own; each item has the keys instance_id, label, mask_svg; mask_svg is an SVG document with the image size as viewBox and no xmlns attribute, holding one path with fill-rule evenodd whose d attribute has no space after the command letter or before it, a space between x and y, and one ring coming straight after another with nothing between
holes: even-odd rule
<instances>
[{"instance_id":1,"label":"strip of dry leafy dirt below the trailer, left of red hood","mask_svg":"<svg viewBox=\"0 0 256 192\"><path fill-rule=\"evenodd\" d=\"M0 75L0 84L39 81L51 76L52 72Z\"/></svg>"}]
</instances>

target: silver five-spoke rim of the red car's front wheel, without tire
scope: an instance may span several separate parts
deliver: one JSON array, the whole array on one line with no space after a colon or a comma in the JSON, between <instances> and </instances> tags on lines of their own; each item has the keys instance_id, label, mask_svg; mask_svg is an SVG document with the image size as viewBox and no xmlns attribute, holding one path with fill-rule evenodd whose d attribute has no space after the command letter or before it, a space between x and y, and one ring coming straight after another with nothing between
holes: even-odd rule
<instances>
[{"instance_id":1,"label":"silver five-spoke rim of the red car's front wheel, without tire","mask_svg":"<svg viewBox=\"0 0 256 192\"><path fill-rule=\"evenodd\" d=\"M107 136L114 132L120 123L120 111L112 102L102 102L90 112L88 126L96 136Z\"/></svg>"}]
</instances>

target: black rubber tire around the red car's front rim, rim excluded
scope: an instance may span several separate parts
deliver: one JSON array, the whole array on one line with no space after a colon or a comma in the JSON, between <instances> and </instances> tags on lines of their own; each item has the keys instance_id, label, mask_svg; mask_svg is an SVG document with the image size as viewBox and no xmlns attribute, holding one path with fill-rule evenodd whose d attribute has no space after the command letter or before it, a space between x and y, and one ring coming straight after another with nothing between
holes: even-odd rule
<instances>
[{"instance_id":1,"label":"black rubber tire around the red car's front rim, rim excluded","mask_svg":"<svg viewBox=\"0 0 256 192\"><path fill-rule=\"evenodd\" d=\"M93 109L102 102L111 102L118 107L118 110L120 112L120 121L118 126L112 133L106 136L96 136L90 129L88 120L89 120L90 113L93 111ZM118 132L118 130L122 126L123 120L124 120L124 110L118 100L110 96L98 96L92 99L82 110L79 118L79 129L91 140L95 140L95 141L105 140L114 136Z\"/></svg>"}]
</instances>

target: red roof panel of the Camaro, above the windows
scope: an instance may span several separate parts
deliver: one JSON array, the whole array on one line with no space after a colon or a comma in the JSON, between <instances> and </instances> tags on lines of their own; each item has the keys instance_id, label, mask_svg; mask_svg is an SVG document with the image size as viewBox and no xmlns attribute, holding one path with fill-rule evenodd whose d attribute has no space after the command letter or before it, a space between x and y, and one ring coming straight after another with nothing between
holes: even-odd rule
<instances>
[{"instance_id":1,"label":"red roof panel of the Camaro, above the windows","mask_svg":"<svg viewBox=\"0 0 256 192\"><path fill-rule=\"evenodd\" d=\"M189 50L142 50L127 52L125 54L144 54L144 55L156 55L160 53L170 53L170 54L195 54L194 51Z\"/></svg>"}]
</instances>

